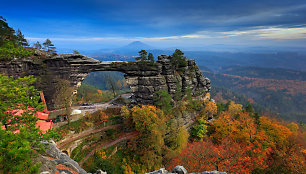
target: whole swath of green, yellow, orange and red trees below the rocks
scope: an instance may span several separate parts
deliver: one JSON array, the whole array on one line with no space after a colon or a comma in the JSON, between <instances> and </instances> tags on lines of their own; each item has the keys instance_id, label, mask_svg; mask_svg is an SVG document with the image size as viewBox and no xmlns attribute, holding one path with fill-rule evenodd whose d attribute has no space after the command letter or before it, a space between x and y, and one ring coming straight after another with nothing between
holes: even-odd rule
<instances>
[{"instance_id":1,"label":"whole swath of green, yellow, orange and red trees below the rocks","mask_svg":"<svg viewBox=\"0 0 306 174\"><path fill-rule=\"evenodd\" d=\"M252 105L243 107L229 101L184 98L176 105L169 94L156 100L157 106L122 106L120 110L98 112L80 121L80 127L107 119L121 118L124 129L112 130L106 139L88 137L87 143L73 152L73 158L88 171L108 173L145 173L183 165L188 171L219 170L227 173L301 173L305 170L305 126L263 116ZM170 102L171 103L171 102ZM186 114L197 113L195 124L184 126ZM207 121L213 116L213 121ZM99 125L96 125L99 126ZM99 142L120 138L124 133L137 136L116 147L100 149ZM98 142L98 143L97 143ZM82 150L85 149L85 150Z\"/></svg>"}]
</instances>

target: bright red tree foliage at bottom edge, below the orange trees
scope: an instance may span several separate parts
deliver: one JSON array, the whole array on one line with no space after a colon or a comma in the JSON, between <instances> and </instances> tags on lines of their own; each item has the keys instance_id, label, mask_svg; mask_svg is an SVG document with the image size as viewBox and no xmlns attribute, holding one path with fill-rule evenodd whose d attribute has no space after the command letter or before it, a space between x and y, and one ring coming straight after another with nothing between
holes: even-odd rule
<instances>
[{"instance_id":1,"label":"bright red tree foliage at bottom edge, below the orange trees","mask_svg":"<svg viewBox=\"0 0 306 174\"><path fill-rule=\"evenodd\" d=\"M193 142L168 164L172 169L183 165L188 171L218 170L227 173L251 173L256 168L266 168L267 153L250 144L241 145L224 140L221 144L210 141Z\"/></svg>"}]
</instances>

